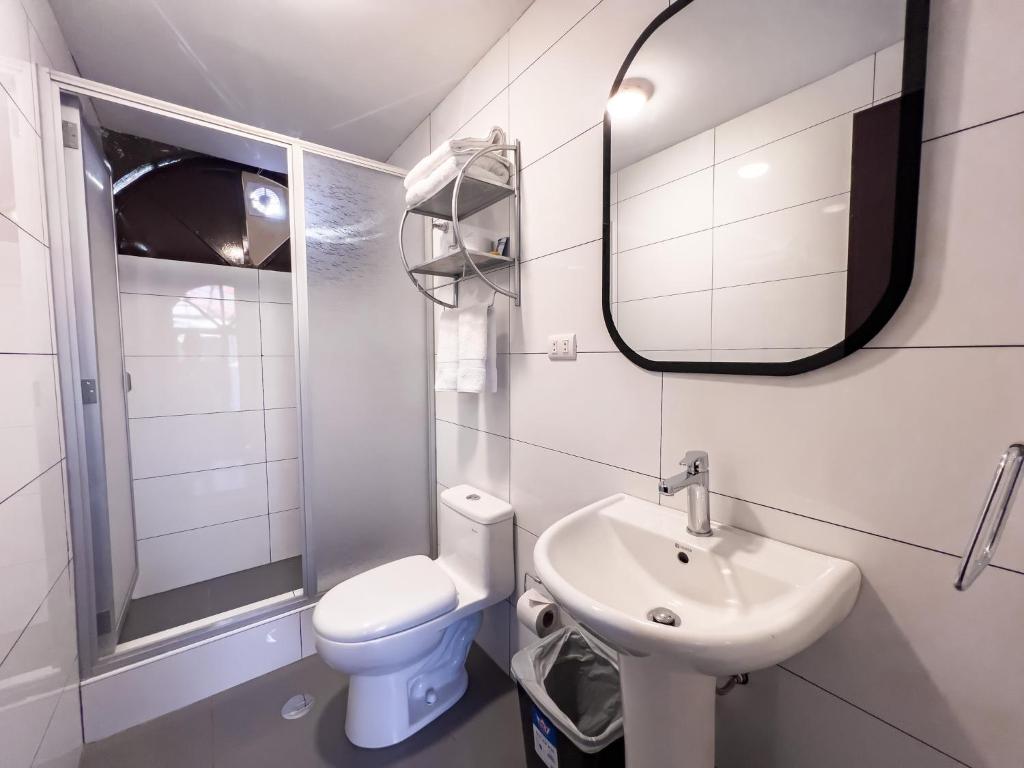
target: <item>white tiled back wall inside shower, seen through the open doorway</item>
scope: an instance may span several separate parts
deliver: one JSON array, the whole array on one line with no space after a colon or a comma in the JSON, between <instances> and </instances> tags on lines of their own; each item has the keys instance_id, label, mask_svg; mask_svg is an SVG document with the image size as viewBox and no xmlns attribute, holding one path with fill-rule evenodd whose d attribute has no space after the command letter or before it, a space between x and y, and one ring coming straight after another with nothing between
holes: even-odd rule
<instances>
[{"instance_id":1,"label":"white tiled back wall inside shower, seen through the open doorway","mask_svg":"<svg viewBox=\"0 0 1024 768\"><path fill-rule=\"evenodd\" d=\"M292 275L118 263L135 597L300 554Z\"/></svg>"}]
</instances>

